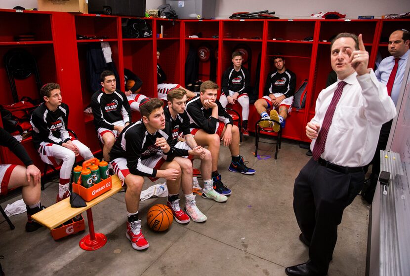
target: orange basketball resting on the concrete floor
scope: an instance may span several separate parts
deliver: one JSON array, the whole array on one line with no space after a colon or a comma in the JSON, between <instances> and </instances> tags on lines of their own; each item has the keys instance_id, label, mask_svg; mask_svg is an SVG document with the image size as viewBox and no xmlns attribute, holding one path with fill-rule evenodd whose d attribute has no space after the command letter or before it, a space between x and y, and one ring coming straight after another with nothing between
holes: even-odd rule
<instances>
[{"instance_id":1,"label":"orange basketball resting on the concrete floor","mask_svg":"<svg viewBox=\"0 0 410 276\"><path fill-rule=\"evenodd\" d=\"M165 231L173 220L172 211L164 204L152 206L147 213L148 226L154 231Z\"/></svg>"}]
</instances>

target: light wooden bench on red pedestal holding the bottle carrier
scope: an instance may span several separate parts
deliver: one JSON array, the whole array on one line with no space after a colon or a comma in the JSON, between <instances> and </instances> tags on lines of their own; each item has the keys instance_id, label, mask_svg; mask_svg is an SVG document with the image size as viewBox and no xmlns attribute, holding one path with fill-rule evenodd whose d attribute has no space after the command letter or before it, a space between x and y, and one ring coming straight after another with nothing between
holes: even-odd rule
<instances>
[{"instance_id":1,"label":"light wooden bench on red pedestal holding the bottle carrier","mask_svg":"<svg viewBox=\"0 0 410 276\"><path fill-rule=\"evenodd\" d=\"M117 194L123 189L122 182L118 176L113 175L111 177L113 186L111 190L91 201L85 202L87 204L86 207L72 208L70 198L66 198L34 214L32 218L51 230L82 212L87 211L89 234L81 239L80 247L84 250L96 250L104 246L107 242L107 237L105 237L104 234L94 232L91 207Z\"/></svg>"}]
</instances>

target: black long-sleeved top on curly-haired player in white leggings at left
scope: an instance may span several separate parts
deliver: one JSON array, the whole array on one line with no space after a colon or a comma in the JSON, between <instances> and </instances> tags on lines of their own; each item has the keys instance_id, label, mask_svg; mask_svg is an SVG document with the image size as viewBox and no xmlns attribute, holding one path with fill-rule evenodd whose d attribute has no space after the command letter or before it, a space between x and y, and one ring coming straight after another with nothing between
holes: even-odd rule
<instances>
[{"instance_id":1,"label":"black long-sleeved top on curly-haired player in white leggings at left","mask_svg":"<svg viewBox=\"0 0 410 276\"><path fill-rule=\"evenodd\" d=\"M30 123L33 126L33 142L36 149L40 148L41 142L57 145L70 140L67 131L68 105L62 103L55 111L47 108L45 103L38 106L32 113Z\"/></svg>"}]
</instances>

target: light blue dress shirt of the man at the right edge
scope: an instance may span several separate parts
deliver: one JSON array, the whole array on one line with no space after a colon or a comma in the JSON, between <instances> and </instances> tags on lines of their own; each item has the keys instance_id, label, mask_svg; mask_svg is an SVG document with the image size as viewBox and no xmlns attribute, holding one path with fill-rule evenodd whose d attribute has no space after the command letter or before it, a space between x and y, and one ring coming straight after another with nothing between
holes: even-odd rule
<instances>
[{"instance_id":1,"label":"light blue dress shirt of the man at the right edge","mask_svg":"<svg viewBox=\"0 0 410 276\"><path fill-rule=\"evenodd\" d=\"M394 78L392 93L390 95L395 105L397 105L397 100L399 99L399 96L400 96L400 88L402 87L403 76L406 71L405 69L406 69L407 60L409 59L409 53L410 53L410 50L408 50L399 59L399 65L397 68L396 78ZM377 67L376 72L374 72L374 74L376 74L376 78L380 82L386 85L387 85L387 82L389 81L390 73L393 70L393 66L395 63L394 60L395 58L393 56L386 57L380 62L379 67Z\"/></svg>"}]
</instances>

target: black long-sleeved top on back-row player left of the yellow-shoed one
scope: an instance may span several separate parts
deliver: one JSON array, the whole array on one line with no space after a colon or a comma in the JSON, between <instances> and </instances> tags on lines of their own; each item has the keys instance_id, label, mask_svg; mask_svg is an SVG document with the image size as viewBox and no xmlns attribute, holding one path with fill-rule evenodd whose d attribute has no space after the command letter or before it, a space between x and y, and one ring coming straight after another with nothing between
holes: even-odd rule
<instances>
[{"instance_id":1,"label":"black long-sleeved top on back-row player left of the yellow-shoed one","mask_svg":"<svg viewBox=\"0 0 410 276\"><path fill-rule=\"evenodd\" d=\"M241 66L241 69L236 71L232 65L225 70L222 77L222 93L229 96L229 91L239 94L250 91L250 75L245 67Z\"/></svg>"}]
</instances>

